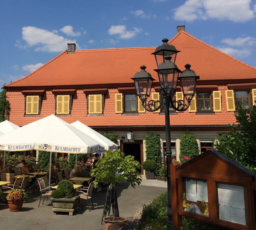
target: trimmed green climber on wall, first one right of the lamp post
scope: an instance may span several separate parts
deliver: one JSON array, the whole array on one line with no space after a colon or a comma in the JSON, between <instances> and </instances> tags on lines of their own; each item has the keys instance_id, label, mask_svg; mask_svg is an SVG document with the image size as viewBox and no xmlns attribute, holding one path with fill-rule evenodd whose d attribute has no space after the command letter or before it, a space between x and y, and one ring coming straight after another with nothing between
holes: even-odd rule
<instances>
[{"instance_id":1,"label":"trimmed green climber on wall, first one right of the lamp post","mask_svg":"<svg viewBox=\"0 0 256 230\"><path fill-rule=\"evenodd\" d=\"M180 141L180 158L195 157L199 153L198 143L196 137L193 134L184 133L181 136Z\"/></svg>"}]
</instances>

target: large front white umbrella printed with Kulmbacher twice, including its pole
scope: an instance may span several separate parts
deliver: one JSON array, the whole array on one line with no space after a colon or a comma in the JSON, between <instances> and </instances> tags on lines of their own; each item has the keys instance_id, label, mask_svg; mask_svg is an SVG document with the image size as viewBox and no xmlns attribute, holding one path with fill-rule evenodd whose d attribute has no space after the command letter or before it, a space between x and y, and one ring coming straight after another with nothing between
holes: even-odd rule
<instances>
[{"instance_id":1,"label":"large front white umbrella printed with Kulmbacher twice, including its pole","mask_svg":"<svg viewBox=\"0 0 256 230\"><path fill-rule=\"evenodd\" d=\"M0 136L0 150L49 151L51 178L52 152L86 154L104 150L104 146L55 115L50 115Z\"/></svg>"}]
</instances>

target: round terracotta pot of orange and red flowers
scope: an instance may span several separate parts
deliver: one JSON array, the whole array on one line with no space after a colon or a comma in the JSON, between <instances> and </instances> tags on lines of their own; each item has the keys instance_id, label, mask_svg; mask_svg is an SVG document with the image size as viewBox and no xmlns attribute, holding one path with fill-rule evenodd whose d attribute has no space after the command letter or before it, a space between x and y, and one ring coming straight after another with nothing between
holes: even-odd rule
<instances>
[{"instance_id":1,"label":"round terracotta pot of orange and red flowers","mask_svg":"<svg viewBox=\"0 0 256 230\"><path fill-rule=\"evenodd\" d=\"M7 202L11 212L20 212L24 199L28 198L26 192L21 189L14 189L7 195Z\"/></svg>"}]
</instances>

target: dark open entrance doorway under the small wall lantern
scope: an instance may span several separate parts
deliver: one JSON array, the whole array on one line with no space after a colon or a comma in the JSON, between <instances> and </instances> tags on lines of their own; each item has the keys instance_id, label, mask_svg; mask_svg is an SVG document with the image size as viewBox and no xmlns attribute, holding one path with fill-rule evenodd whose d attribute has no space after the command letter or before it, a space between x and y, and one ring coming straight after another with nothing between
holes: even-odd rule
<instances>
[{"instance_id":1,"label":"dark open entrance doorway under the small wall lantern","mask_svg":"<svg viewBox=\"0 0 256 230\"><path fill-rule=\"evenodd\" d=\"M134 140L134 142L123 142L121 140L121 151L127 156L132 155L134 159L143 163L143 142L141 140ZM141 169L141 174L143 175L143 170Z\"/></svg>"}]
</instances>

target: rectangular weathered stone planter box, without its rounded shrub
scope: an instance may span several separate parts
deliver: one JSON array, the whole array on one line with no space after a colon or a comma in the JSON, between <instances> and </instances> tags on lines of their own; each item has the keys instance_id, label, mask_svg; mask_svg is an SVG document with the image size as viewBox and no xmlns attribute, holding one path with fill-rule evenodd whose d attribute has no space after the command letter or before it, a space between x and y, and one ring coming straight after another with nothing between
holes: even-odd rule
<instances>
[{"instance_id":1,"label":"rectangular weathered stone planter box, without its rounded shrub","mask_svg":"<svg viewBox=\"0 0 256 230\"><path fill-rule=\"evenodd\" d=\"M53 213L57 214L57 212L68 212L69 216L73 216L73 213L76 210L76 205L79 200L79 196L75 196L73 198L52 198L53 202Z\"/></svg>"}]
</instances>

